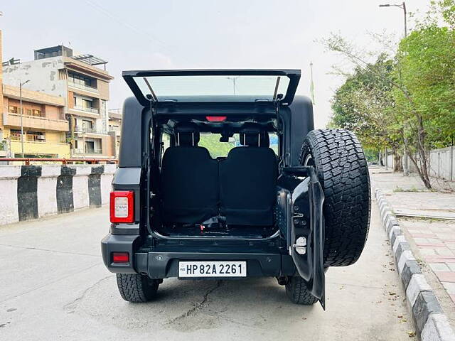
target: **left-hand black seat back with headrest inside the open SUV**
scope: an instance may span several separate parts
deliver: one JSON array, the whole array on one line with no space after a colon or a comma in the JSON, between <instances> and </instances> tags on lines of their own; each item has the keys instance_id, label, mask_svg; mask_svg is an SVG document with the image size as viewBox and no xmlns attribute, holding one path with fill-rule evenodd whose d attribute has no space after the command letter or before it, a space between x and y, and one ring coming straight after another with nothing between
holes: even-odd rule
<instances>
[{"instance_id":1,"label":"left-hand black seat back with headrest inside the open SUV","mask_svg":"<svg viewBox=\"0 0 455 341\"><path fill-rule=\"evenodd\" d=\"M167 148L161 166L164 222L200 224L218 215L218 161L198 147L198 126L180 122L173 128L177 146Z\"/></svg>"}]
</instances>

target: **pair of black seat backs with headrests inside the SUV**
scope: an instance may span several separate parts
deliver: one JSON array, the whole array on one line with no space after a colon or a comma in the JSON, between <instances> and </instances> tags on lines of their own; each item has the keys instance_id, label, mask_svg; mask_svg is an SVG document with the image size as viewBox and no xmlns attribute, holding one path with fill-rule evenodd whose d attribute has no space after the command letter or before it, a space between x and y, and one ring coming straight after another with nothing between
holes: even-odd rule
<instances>
[{"instance_id":1,"label":"pair of black seat backs with headrests inside the SUV","mask_svg":"<svg viewBox=\"0 0 455 341\"><path fill-rule=\"evenodd\" d=\"M174 127L178 146L167 148L161 168L164 222L200 224L222 215L230 225L272 226L277 157L259 124L240 131L242 147L214 160L198 147L198 126Z\"/></svg>"}]
</instances>

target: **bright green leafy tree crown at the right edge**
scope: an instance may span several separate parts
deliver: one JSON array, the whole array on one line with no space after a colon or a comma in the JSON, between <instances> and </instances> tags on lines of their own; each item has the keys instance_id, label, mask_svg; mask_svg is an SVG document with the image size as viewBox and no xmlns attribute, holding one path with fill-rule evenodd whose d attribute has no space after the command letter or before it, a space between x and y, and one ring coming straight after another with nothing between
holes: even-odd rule
<instances>
[{"instance_id":1,"label":"bright green leafy tree crown at the right edge","mask_svg":"<svg viewBox=\"0 0 455 341\"><path fill-rule=\"evenodd\" d=\"M434 23L421 26L400 42L397 53L402 86L393 91L397 117L405 122L410 145L422 117L424 147L449 146L455 134L455 31Z\"/></svg>"}]
</instances>

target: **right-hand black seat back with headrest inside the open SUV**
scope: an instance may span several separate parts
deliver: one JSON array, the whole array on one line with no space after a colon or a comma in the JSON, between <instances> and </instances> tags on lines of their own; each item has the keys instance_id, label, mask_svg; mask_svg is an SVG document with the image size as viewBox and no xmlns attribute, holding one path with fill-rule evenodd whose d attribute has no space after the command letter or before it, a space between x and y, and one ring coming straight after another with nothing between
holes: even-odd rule
<instances>
[{"instance_id":1,"label":"right-hand black seat back with headrest inside the open SUV","mask_svg":"<svg viewBox=\"0 0 455 341\"><path fill-rule=\"evenodd\" d=\"M277 195L277 156L259 124L246 123L240 144L220 161L220 212L233 225L271 226Z\"/></svg>"}]
</instances>

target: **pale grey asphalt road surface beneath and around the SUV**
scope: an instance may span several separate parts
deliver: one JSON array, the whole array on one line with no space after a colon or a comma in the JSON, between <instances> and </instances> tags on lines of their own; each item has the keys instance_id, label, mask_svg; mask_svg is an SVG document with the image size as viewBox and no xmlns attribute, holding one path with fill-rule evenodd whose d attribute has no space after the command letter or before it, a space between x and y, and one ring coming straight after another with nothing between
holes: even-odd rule
<instances>
[{"instance_id":1,"label":"pale grey asphalt road surface beneath and around the SUV","mask_svg":"<svg viewBox=\"0 0 455 341\"><path fill-rule=\"evenodd\" d=\"M373 203L368 244L326 274L326 311L289 303L274 278L168 279L122 300L102 264L107 207L0 227L0 340L412 340Z\"/></svg>"}]
</instances>

